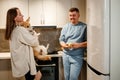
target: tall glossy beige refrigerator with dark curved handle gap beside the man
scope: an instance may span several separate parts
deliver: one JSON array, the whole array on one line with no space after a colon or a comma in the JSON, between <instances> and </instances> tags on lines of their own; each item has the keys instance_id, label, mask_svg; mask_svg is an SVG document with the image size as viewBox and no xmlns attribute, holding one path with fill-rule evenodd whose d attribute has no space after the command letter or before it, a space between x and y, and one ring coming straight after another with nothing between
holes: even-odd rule
<instances>
[{"instance_id":1,"label":"tall glossy beige refrigerator with dark curved handle gap beside the man","mask_svg":"<svg viewBox=\"0 0 120 80\"><path fill-rule=\"evenodd\" d=\"M87 80L110 79L109 3L87 0Z\"/></svg>"}]
</instances>

